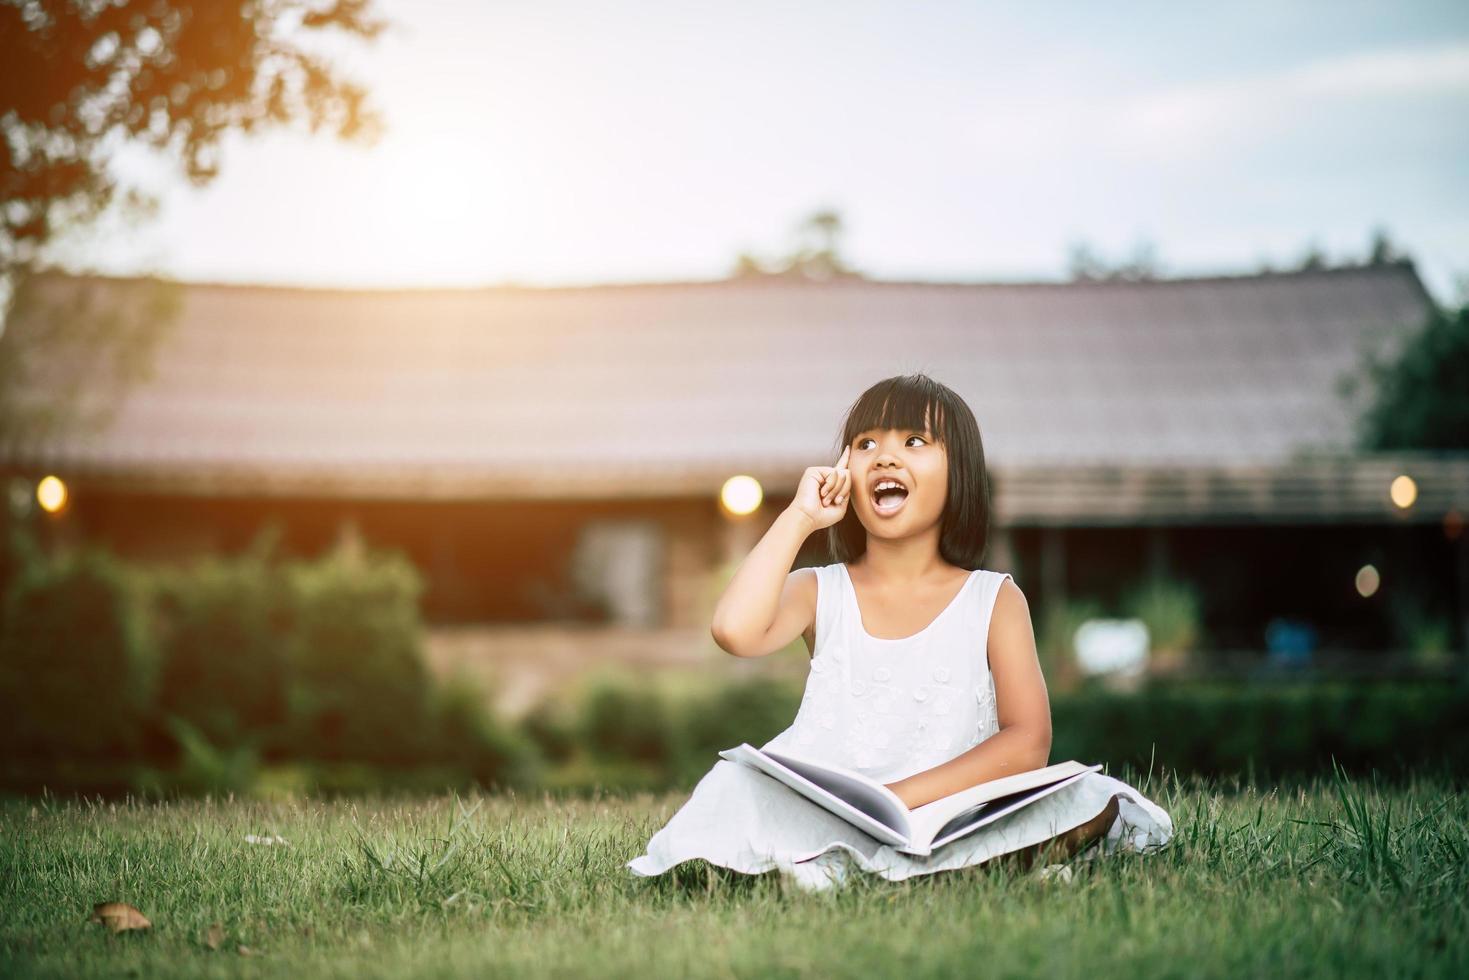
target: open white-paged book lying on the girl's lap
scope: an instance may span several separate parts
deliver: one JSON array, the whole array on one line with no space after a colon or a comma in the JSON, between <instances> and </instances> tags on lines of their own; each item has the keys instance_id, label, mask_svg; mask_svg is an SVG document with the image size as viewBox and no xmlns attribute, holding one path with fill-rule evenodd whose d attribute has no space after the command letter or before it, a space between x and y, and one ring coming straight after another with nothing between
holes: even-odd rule
<instances>
[{"instance_id":1,"label":"open white-paged book lying on the girl's lap","mask_svg":"<svg viewBox=\"0 0 1469 980\"><path fill-rule=\"evenodd\" d=\"M992 779L909 810L898 793L870 776L784 749L758 749L743 742L723 749L720 758L758 768L883 843L920 857L1102 768L1056 763Z\"/></svg>"}]
</instances>

